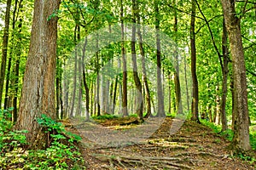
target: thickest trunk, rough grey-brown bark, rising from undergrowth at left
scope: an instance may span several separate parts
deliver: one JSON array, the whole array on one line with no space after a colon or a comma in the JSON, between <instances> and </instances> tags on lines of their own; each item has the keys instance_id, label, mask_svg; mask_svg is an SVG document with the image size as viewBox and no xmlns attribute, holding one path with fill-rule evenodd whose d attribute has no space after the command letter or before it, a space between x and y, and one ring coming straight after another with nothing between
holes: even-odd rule
<instances>
[{"instance_id":1,"label":"thickest trunk, rough grey-brown bark, rising from undergrowth at left","mask_svg":"<svg viewBox=\"0 0 256 170\"><path fill-rule=\"evenodd\" d=\"M37 118L45 114L56 119L55 67L57 17L60 0L35 0L32 33L26 61L16 130L26 129L31 145L44 139ZM39 139L40 138L40 139Z\"/></svg>"}]
</instances>

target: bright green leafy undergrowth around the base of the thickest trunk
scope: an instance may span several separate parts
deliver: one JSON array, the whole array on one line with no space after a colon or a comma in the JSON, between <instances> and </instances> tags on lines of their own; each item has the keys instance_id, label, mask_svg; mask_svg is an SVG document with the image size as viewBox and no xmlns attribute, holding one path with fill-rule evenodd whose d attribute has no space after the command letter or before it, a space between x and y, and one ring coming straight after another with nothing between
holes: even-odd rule
<instances>
[{"instance_id":1,"label":"bright green leafy undergrowth around the base of the thickest trunk","mask_svg":"<svg viewBox=\"0 0 256 170\"><path fill-rule=\"evenodd\" d=\"M75 142L78 135L68 133L60 122L42 115L38 123L50 137L45 150L26 150L26 131L13 131L9 111L0 111L1 169L85 169L84 158Z\"/></svg>"}]
</instances>

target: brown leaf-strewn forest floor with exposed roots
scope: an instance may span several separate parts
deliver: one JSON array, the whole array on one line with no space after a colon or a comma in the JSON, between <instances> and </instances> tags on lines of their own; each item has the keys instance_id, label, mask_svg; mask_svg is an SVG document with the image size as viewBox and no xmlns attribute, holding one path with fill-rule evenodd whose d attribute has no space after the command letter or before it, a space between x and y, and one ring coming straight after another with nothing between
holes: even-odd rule
<instances>
[{"instance_id":1,"label":"brown leaf-strewn forest floor with exposed roots","mask_svg":"<svg viewBox=\"0 0 256 170\"><path fill-rule=\"evenodd\" d=\"M157 118L155 118L157 119ZM157 121L157 120L154 120ZM90 141L91 135L108 135L91 128L91 133L83 133L89 122L79 119L63 122L67 130L82 137L79 144L87 169L255 169L254 162L242 161L232 156L228 146L230 141L213 133L210 127L195 122L182 122L182 127L172 133L173 124L179 120L166 117L160 127L148 139L137 143L100 144ZM128 123L127 123L128 122ZM125 120L100 120L102 127L118 129L124 132L126 128L134 128L129 122L136 118ZM94 124L96 122L90 122ZM144 123L143 123L144 124ZM88 129L87 129L88 130ZM171 130L171 131L170 131ZM171 133L170 133L171 132ZM87 138L89 137L89 138ZM111 138L111 136L110 136ZM102 139L102 138L101 138ZM108 137L106 137L108 140ZM120 139L121 140L121 139ZM100 141L100 140L99 140Z\"/></svg>"}]
</instances>

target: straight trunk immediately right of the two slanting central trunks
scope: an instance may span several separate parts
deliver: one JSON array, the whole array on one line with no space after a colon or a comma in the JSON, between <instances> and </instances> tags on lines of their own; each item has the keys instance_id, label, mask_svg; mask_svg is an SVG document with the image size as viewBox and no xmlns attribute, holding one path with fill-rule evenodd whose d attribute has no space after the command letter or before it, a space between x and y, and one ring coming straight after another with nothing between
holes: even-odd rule
<instances>
[{"instance_id":1,"label":"straight trunk immediately right of the two slanting central trunks","mask_svg":"<svg viewBox=\"0 0 256 170\"><path fill-rule=\"evenodd\" d=\"M156 31L156 58L157 58L157 116L166 116L163 85L161 77L161 48L160 48L160 12L159 12L159 0L154 0L154 13L155 13L155 31Z\"/></svg>"}]
</instances>

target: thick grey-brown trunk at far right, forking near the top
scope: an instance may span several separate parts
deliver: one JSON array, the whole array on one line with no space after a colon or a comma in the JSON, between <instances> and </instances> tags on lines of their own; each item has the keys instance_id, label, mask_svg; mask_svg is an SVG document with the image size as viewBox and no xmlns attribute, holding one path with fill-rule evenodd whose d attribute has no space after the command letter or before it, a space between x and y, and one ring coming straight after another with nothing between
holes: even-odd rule
<instances>
[{"instance_id":1,"label":"thick grey-brown trunk at far right, forking near the top","mask_svg":"<svg viewBox=\"0 0 256 170\"><path fill-rule=\"evenodd\" d=\"M244 51L241 41L240 20L236 16L236 1L222 0L225 26L230 39L230 53L232 56L232 72L234 79L234 150L250 150L249 119L247 108L247 75ZM246 10L245 3L244 11Z\"/></svg>"}]
</instances>

